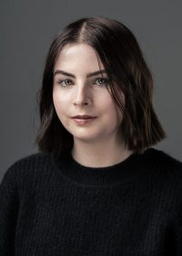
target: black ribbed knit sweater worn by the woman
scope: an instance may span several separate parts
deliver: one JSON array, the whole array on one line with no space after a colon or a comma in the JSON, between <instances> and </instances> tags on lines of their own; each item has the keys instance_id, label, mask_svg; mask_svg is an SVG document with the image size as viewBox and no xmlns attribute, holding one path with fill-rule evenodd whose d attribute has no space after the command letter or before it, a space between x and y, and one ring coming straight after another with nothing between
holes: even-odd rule
<instances>
[{"instance_id":1,"label":"black ribbed knit sweater worn by the woman","mask_svg":"<svg viewBox=\"0 0 182 256\"><path fill-rule=\"evenodd\" d=\"M99 168L21 158L0 186L0 255L181 256L182 163L155 148Z\"/></svg>"}]
</instances>

